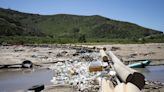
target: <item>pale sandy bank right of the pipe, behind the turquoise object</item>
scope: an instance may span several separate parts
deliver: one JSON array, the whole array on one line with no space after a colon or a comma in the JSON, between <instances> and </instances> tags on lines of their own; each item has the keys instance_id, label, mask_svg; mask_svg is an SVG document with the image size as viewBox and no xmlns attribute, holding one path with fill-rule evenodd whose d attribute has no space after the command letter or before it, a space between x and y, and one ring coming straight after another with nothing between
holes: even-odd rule
<instances>
[{"instance_id":1,"label":"pale sandy bank right of the pipe, behind the turquoise object","mask_svg":"<svg viewBox=\"0 0 164 92\"><path fill-rule=\"evenodd\" d=\"M99 46L99 45L98 45ZM112 50L123 61L151 60L151 65L164 64L164 43L101 45Z\"/></svg>"}]
</instances>

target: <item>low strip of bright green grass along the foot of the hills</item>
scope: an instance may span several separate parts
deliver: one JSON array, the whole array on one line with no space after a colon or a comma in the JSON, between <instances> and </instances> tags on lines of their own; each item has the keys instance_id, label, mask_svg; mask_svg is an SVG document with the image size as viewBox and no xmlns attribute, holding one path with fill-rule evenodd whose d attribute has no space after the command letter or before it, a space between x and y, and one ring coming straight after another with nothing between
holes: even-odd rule
<instances>
[{"instance_id":1,"label":"low strip of bright green grass along the foot of the hills","mask_svg":"<svg viewBox=\"0 0 164 92\"><path fill-rule=\"evenodd\" d=\"M0 44L86 44L86 45L103 45L103 44L142 44L142 43L164 43L164 38L144 38L134 39L93 39L88 38L86 42L80 42L73 38L51 38L51 37L34 37L34 36L1 36Z\"/></svg>"}]
</instances>

